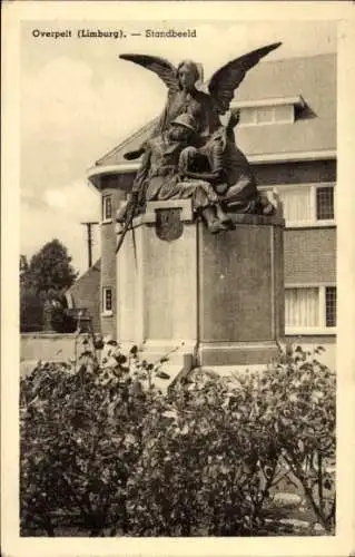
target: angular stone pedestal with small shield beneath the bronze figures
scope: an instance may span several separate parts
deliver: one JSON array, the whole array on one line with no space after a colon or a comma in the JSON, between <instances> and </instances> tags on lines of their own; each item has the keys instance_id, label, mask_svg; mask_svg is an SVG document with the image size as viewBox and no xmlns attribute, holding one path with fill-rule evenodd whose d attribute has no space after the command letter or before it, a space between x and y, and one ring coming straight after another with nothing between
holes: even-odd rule
<instances>
[{"instance_id":1,"label":"angular stone pedestal with small shield beneath the bronze figures","mask_svg":"<svg viewBox=\"0 0 355 557\"><path fill-rule=\"evenodd\" d=\"M268 363L284 335L280 216L211 235L189 201L148 204L117 255L118 339L177 367Z\"/></svg>"}]
</instances>

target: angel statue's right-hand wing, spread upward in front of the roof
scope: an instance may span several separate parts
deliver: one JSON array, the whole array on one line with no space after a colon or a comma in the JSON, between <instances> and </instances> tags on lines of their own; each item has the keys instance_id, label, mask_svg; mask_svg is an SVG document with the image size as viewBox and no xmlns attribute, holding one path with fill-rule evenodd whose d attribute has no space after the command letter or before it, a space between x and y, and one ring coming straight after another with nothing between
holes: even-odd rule
<instances>
[{"instance_id":1,"label":"angel statue's right-hand wing, spread upward in front of the roof","mask_svg":"<svg viewBox=\"0 0 355 557\"><path fill-rule=\"evenodd\" d=\"M253 50L226 63L213 75L208 84L208 90L216 102L216 108L219 114L223 115L229 109L235 89L241 84L246 72L256 66L264 56L268 55L280 45L282 42L274 42L267 47Z\"/></svg>"}]
</instances>

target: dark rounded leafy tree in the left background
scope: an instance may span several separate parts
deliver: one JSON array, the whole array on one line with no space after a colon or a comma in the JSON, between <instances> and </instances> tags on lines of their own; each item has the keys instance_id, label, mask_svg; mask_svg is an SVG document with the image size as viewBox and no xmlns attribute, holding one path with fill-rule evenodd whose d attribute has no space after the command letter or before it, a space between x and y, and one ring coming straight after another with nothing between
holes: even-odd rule
<instances>
[{"instance_id":1,"label":"dark rounded leafy tree in the left background","mask_svg":"<svg viewBox=\"0 0 355 557\"><path fill-rule=\"evenodd\" d=\"M55 238L36 253L24 272L26 284L38 294L62 293L69 289L78 273L71 265L67 247Z\"/></svg>"}]
</instances>

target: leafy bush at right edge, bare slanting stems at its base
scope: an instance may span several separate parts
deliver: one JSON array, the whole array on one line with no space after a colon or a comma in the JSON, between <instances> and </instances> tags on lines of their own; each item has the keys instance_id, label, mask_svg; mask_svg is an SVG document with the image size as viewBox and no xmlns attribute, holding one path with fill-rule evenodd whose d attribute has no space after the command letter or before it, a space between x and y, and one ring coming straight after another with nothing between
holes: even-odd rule
<instances>
[{"instance_id":1,"label":"leafy bush at right edge, bare slanting stems at its base","mask_svg":"<svg viewBox=\"0 0 355 557\"><path fill-rule=\"evenodd\" d=\"M280 361L263 377L260 393L272 387L267 412L282 458L300 482L318 521L335 528L336 377L315 352L288 346Z\"/></svg>"}]
</instances>

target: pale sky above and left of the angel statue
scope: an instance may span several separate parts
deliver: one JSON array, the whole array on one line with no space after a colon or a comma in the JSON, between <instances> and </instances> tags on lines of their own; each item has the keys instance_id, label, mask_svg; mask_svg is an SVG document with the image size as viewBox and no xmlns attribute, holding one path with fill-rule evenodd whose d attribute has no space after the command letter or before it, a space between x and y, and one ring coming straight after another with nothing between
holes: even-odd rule
<instances>
[{"instance_id":1,"label":"pale sky above and left of the angel statue","mask_svg":"<svg viewBox=\"0 0 355 557\"><path fill-rule=\"evenodd\" d=\"M197 38L147 39L145 29L196 29ZM34 38L32 31L71 30L71 38ZM76 37L78 29L119 30L126 39ZM221 40L223 38L223 40ZM30 257L58 237L79 272L87 268L86 227L100 218L100 198L87 170L157 116L166 88L154 74L119 60L124 52L157 55L177 65L203 63L205 79L254 48L282 41L267 60L336 51L334 21L226 22L47 20L21 26L20 252ZM253 71L253 70L252 70ZM247 79L247 78L246 78ZM99 257L99 227L93 235Z\"/></svg>"}]
</instances>

